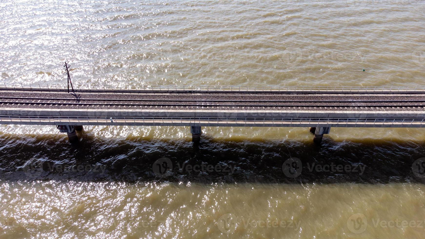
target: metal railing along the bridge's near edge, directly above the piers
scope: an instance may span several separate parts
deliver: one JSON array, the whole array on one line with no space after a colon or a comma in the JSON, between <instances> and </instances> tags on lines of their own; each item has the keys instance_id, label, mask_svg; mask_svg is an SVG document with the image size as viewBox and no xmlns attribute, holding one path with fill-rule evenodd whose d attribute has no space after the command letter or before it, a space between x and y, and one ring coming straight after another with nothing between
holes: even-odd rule
<instances>
[{"instance_id":1,"label":"metal railing along the bridge's near edge, directly above the piers","mask_svg":"<svg viewBox=\"0 0 425 239\"><path fill-rule=\"evenodd\" d=\"M0 122L80 122L80 123L202 123L202 124L402 124L422 125L421 118L195 118L195 117L67 117L0 115Z\"/></svg>"}]
</instances>

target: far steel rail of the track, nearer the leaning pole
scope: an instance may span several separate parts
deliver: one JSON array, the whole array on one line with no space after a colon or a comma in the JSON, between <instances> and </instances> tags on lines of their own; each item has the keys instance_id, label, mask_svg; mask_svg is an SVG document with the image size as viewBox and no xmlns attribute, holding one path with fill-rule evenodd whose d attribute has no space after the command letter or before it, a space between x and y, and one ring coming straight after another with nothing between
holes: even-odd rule
<instances>
[{"instance_id":1,"label":"far steel rail of the track, nearer the leaning pole","mask_svg":"<svg viewBox=\"0 0 425 239\"><path fill-rule=\"evenodd\" d=\"M405 97L405 96L403 96ZM63 100L63 101L176 101L176 102L198 102L198 101L208 101L208 102L311 102L309 100L182 100L182 99L101 99L101 98L42 98L42 97L11 97L11 96L0 96L0 99L26 99L26 100ZM391 102L425 102L425 100L314 100L314 102L382 102L382 103L391 103ZM65 103L65 102L63 102ZM79 102L77 102L79 103Z\"/></svg>"}]
</instances>

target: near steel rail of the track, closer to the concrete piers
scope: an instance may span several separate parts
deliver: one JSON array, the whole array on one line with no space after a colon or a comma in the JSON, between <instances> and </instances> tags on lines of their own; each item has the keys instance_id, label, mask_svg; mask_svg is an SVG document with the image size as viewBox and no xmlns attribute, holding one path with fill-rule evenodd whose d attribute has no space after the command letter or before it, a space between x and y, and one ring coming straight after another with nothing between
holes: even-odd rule
<instances>
[{"instance_id":1,"label":"near steel rail of the track, closer to the concrete piers","mask_svg":"<svg viewBox=\"0 0 425 239\"><path fill-rule=\"evenodd\" d=\"M170 106L170 107L425 107L425 104L401 104L401 105L293 105L293 104L285 104L285 105L262 105L262 104L130 104L130 103L75 103L75 102L23 102L23 101L0 101L0 104L23 104L23 105L31 105L31 104L49 104L49 105L83 105L83 106Z\"/></svg>"}]
</instances>

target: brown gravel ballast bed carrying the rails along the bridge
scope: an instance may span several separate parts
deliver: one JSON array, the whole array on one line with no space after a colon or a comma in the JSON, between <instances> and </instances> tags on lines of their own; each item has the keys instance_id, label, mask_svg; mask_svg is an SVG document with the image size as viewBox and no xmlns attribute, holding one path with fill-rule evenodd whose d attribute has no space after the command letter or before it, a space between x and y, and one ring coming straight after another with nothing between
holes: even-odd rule
<instances>
[{"instance_id":1,"label":"brown gravel ballast bed carrying the rails along the bridge","mask_svg":"<svg viewBox=\"0 0 425 239\"><path fill-rule=\"evenodd\" d=\"M0 99L2 101L0 107L4 108L42 109L422 111L425 106L425 102L420 102L425 101L425 95L418 94L395 96L368 94L359 96L358 94L68 94L0 92ZM19 102L28 102L28 104ZM45 102L57 104L42 104Z\"/></svg>"}]
</instances>

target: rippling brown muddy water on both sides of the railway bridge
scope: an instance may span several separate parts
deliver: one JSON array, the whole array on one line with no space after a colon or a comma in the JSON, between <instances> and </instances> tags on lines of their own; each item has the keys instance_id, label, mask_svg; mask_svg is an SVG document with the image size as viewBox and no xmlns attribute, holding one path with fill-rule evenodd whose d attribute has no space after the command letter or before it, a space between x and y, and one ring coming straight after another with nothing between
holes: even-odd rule
<instances>
[{"instance_id":1,"label":"rippling brown muddy water on both sides of the railway bridge","mask_svg":"<svg viewBox=\"0 0 425 239\"><path fill-rule=\"evenodd\" d=\"M0 1L0 83L425 85L425 2ZM365 71L363 72L363 69ZM425 130L0 126L0 238L424 238ZM293 170L295 169L295 170Z\"/></svg>"}]
</instances>

